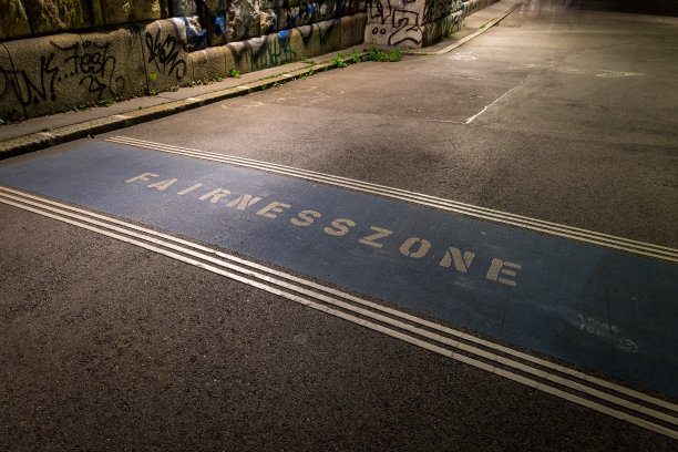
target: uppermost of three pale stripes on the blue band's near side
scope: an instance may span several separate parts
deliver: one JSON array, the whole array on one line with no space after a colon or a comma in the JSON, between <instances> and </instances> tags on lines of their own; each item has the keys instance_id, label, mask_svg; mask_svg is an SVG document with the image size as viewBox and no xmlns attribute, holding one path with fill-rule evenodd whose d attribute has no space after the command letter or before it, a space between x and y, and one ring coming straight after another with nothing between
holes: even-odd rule
<instances>
[{"instance_id":1,"label":"uppermost of three pale stripes on the blue band's near side","mask_svg":"<svg viewBox=\"0 0 678 452\"><path fill-rule=\"evenodd\" d=\"M619 393L623 393L625 396L633 397L633 398L638 399L638 400L643 400L643 401L645 401L647 403L653 403L655 405L662 407L662 408L666 408L666 409L669 409L669 410L678 412L678 405L676 405L674 403L670 403L670 402L667 402L667 401L664 401L664 400L660 400L660 399L656 399L656 398L649 397L647 394L644 394L644 393L638 392L638 391L634 391L634 390L625 388L625 387L620 387L620 386L617 386L617 384L614 384L614 383L609 383L609 382L607 382L605 380L600 380L598 378L588 376L586 373L576 371L574 369L569 369L569 368L566 368L566 367L563 367L563 366L558 366L558 364L553 363L551 361L546 361L546 360L533 357L531 355L523 353L523 352L520 352L517 350L514 350L514 349L511 349L511 348L507 348L507 347L504 347L504 346L500 346L500 345L491 342L489 340L484 340L484 339L477 338L475 336L471 336L471 335L464 333L462 331L459 331L459 330L455 330L455 329L452 329L452 328L449 328L449 327L445 327L445 326L442 326L442 325L439 325L439 323L434 323L434 322L421 319L421 318L419 318L417 316L408 315L408 314L402 312L400 310L388 308L386 306L378 305L376 302L371 302L369 300L364 300L364 299L359 298L359 297L355 297L355 296L352 296L350 294L346 294L343 291L340 291L340 290L337 290L337 289L333 289L333 288L330 288L330 287L322 286L322 285L314 282L311 280L299 278L299 277L296 277L294 275L286 274L284 271L278 271L278 270L275 270L273 268L266 267L264 265L259 265L259 264L256 264L256 263L253 263L253 261L249 261L249 260L236 257L236 256L232 256L232 255L228 255L226 253L222 253L222 251L218 251L218 250L213 249L213 248L208 248L208 247L205 247L205 246L202 246L202 245L197 245L197 244L194 244L192 242L184 240L184 239L181 239L181 238L167 235L167 234L158 233L156 230L148 229L148 228L145 228L145 227L142 227L142 226L137 226L137 225L134 225L134 224L131 224L131 223L126 223L126 222L123 222L123 220L119 220L119 219L115 219L115 218L112 218L112 217L109 217L109 216L100 215L100 214L96 214L96 213L93 213L93 212L90 212L90 210L85 210L85 209L73 207L73 206L69 206L69 205L65 205L65 204L62 204L62 203L59 203L59 202L54 202L54 201L50 201L50 199L42 198L42 197L39 197L39 196L34 196L34 195L31 195L31 194L25 193L25 192L12 189L12 188L9 188L9 187L3 187L3 186L0 185L0 192L1 191L11 193L11 194L14 194L14 195L18 195L18 196L22 196L23 198L30 198L30 199L34 199L34 201L38 201L38 202L43 203L43 204L49 204L51 206L58 207L59 209L65 209L65 210L74 212L74 213L78 213L78 214L88 215L90 217L99 218L99 219L102 219L102 220L105 220L105 222L109 222L109 223L112 223L112 224L116 224L116 225L123 226L123 227L125 227L127 229L133 229L133 230L137 230L140 233L143 233L143 234L146 234L146 235L160 237L160 238L163 238L165 240L170 240L170 242L183 245L185 247L197 249L197 250L199 250L202 253L207 253L208 255L215 255L217 257L220 257L220 258L224 258L224 259L237 263L239 265L245 265L245 266L251 267L251 268L254 268L256 270L268 273L270 275L274 275L275 277L284 278L284 279L287 279L287 280L290 280L290 281L294 281L294 282L307 286L307 287L311 287L311 288L314 288L316 290L320 290L320 291L323 291L326 294L333 295L333 296L337 296L337 297L350 300L352 302L366 306L366 307L368 307L368 308L370 308L372 310L379 310L379 311L386 312L386 314L388 314L390 316L399 317L399 318L401 318L403 320L419 323L422 327L425 327L425 328L429 328L429 329L434 329L434 330L438 330L438 331L440 331L442 333L454 336L454 337L458 337L458 338L460 338L462 340L465 340L465 341L469 341L469 342L475 342L475 343L477 343L477 345L480 345L482 347L494 349L494 350L500 351L500 352L502 352L504 355L511 355L511 356L513 356L515 358L518 358L521 360L530 361L530 362L533 362L533 363L535 363L537 366L553 369L554 371L557 371L559 373L569 374L569 376L572 376L574 378L587 381L587 382L596 384L598 387L606 388L608 390L613 390L615 392L619 392ZM10 195L6 195L6 196L10 196ZM19 199L19 198L16 198L16 199ZM24 201L24 202L30 203L28 201ZM49 207L45 206L44 208L49 208ZM59 210L56 210L56 212L59 212Z\"/></svg>"}]
</instances>

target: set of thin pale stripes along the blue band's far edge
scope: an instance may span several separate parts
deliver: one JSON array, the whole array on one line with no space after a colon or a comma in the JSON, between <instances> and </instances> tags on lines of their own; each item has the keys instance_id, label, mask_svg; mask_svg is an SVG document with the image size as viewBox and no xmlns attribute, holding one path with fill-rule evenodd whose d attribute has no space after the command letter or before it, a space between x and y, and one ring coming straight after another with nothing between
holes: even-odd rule
<instances>
[{"instance_id":1,"label":"set of thin pale stripes along the blue band's far edge","mask_svg":"<svg viewBox=\"0 0 678 452\"><path fill-rule=\"evenodd\" d=\"M109 142L126 144L137 147L150 148L154 151L161 151L168 154L177 154L192 156L202 160L208 160L213 162L228 163L238 166L250 167L255 170L261 170L269 173L288 175L297 178L302 178L311 182L320 182L327 185L339 186L343 188L350 188L359 192L370 193L389 197L399 201L407 201L410 203L434 207L441 210L454 212L466 216L472 216L494 223L507 224L517 226L531 230L536 230L553 236L571 238L578 242L589 243L599 245L608 248L619 249L628 253L634 253L643 256L654 257L662 260L678 263L678 249L648 244L638 240L631 240L627 238L616 237L607 234L596 233L593 230L582 229L573 226L561 225L557 223L545 222L536 218L530 218L521 215L510 214L501 210L489 209L485 207L473 206L470 204L459 203L450 199L439 198L421 193L408 192L400 188L388 187L383 185L372 184L368 182L361 182L350 179L341 176L332 176L323 173L312 172L308 170L299 170L289 166L266 163L255 161L245 157L237 157L232 155L215 154L187 147L164 145L142 140L127 138L123 136L116 136L106 138Z\"/></svg>"}]
</instances>

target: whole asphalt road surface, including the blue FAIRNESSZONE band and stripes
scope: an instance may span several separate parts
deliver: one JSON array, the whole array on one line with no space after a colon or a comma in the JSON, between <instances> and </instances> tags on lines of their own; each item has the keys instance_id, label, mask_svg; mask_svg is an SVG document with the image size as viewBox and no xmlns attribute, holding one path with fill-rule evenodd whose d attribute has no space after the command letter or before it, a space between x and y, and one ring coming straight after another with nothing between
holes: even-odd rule
<instances>
[{"instance_id":1,"label":"whole asphalt road surface, including the blue FAIRNESSZONE band and stripes","mask_svg":"<svg viewBox=\"0 0 678 452\"><path fill-rule=\"evenodd\" d=\"M0 162L0 450L675 450L678 19L581 3ZM243 212L219 229L213 207ZM414 236L430 210L470 238ZM464 315L391 251L455 271ZM563 281L647 302L495 328L578 253L630 264ZM608 367L566 356L600 340Z\"/></svg>"}]
</instances>

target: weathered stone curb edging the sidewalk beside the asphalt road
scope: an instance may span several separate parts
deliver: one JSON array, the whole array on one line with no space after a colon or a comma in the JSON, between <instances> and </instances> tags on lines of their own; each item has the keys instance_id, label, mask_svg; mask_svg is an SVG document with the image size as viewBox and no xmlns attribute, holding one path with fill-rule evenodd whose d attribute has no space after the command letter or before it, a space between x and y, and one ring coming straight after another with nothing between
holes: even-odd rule
<instances>
[{"instance_id":1,"label":"weathered stone curb edging the sidewalk beside the asphalt road","mask_svg":"<svg viewBox=\"0 0 678 452\"><path fill-rule=\"evenodd\" d=\"M358 53L359 56L362 56L366 52ZM352 56L347 56L340 61L346 64L353 63ZM131 111L122 114L114 114L111 116L84 121L79 124L65 125L50 131L35 132L23 136L8 138L6 141L0 142L0 160L12 157L16 155L27 154L34 151L40 151L58 144L84 138L90 135L129 127L131 125L157 120L164 116L170 116L175 113L197 109L199 106L205 106L215 102L239 97L249 93L266 90L276 85L276 83L284 84L289 81L300 79L302 76L311 75L312 73L319 71L328 71L336 68L336 61L328 61L319 64L314 64L312 66L309 65L308 68L304 68L300 70L286 72L274 78L267 78L264 80L257 80L255 82L248 82L242 85L228 88L226 90L199 94L184 100L150 106L137 111Z\"/></svg>"}]
</instances>

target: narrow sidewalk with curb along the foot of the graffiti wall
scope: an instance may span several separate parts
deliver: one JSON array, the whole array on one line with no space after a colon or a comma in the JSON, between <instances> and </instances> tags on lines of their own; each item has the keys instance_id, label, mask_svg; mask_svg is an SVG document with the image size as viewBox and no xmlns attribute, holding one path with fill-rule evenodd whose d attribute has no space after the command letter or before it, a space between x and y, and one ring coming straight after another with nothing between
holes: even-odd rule
<instances>
[{"instance_id":1,"label":"narrow sidewalk with curb along the foot of the graffiti wall","mask_svg":"<svg viewBox=\"0 0 678 452\"><path fill-rule=\"evenodd\" d=\"M466 19L462 30L452 37L422 50L408 51L404 55L443 54L463 45L484 33L522 4L521 0L501 0L482 9ZM277 86L291 80L306 78L319 71L338 68L337 54L347 56L345 63L352 63L356 51L363 55L370 44L363 43L314 60L288 63L257 72L243 74L239 79L223 79L206 85L181 88L175 92L162 92L109 106L92 106L85 111L71 111L49 116L29 119L16 124L0 125L0 158L25 154L73 140L111 132L146 121L196 109L214 102L238 97L248 93Z\"/></svg>"}]
</instances>

